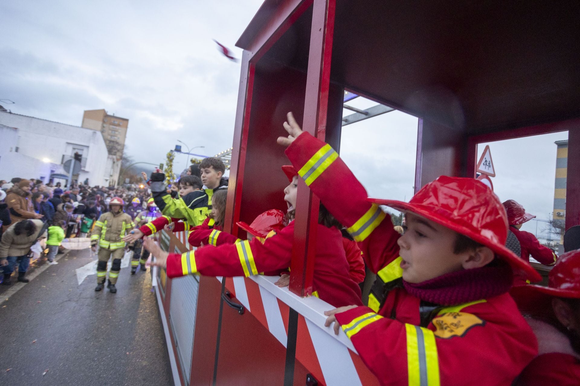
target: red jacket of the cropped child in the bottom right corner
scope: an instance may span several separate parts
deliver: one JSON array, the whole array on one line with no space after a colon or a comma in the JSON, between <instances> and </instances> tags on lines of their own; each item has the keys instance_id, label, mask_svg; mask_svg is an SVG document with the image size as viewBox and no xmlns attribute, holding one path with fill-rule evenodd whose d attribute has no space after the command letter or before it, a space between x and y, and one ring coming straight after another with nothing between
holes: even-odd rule
<instances>
[{"instance_id":1,"label":"red jacket of the cropped child in the bottom right corner","mask_svg":"<svg viewBox=\"0 0 580 386\"><path fill-rule=\"evenodd\" d=\"M561 352L538 355L514 383L514 386L548 385L580 385L580 359Z\"/></svg>"}]
</instances>

